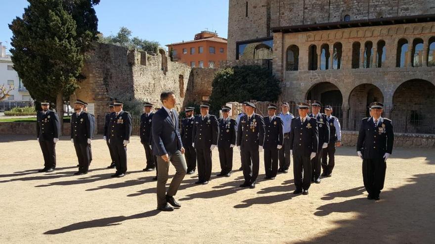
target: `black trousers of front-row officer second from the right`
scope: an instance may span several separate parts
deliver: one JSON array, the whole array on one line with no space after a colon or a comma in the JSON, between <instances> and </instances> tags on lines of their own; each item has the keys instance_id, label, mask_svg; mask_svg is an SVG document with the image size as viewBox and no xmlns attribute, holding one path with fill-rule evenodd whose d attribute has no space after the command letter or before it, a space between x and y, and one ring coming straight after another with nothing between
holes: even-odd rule
<instances>
[{"instance_id":1,"label":"black trousers of front-row officer second from the right","mask_svg":"<svg viewBox=\"0 0 435 244\"><path fill-rule=\"evenodd\" d=\"M296 190L308 190L311 185L311 160L309 159L309 155L293 154L293 175Z\"/></svg>"}]
</instances>

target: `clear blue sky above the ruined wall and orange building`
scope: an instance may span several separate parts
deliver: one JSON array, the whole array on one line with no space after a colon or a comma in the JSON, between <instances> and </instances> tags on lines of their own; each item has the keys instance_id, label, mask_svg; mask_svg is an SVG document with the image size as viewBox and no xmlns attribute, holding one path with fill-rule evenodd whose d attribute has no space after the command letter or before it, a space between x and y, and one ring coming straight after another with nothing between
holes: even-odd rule
<instances>
[{"instance_id":1,"label":"clear blue sky above the ruined wall and orange building","mask_svg":"<svg viewBox=\"0 0 435 244\"><path fill-rule=\"evenodd\" d=\"M27 0L0 0L0 41L8 48L12 36L8 24L21 17L27 5ZM103 35L116 34L125 26L132 36L161 46L193 40L206 28L227 36L228 0L101 0L95 11Z\"/></svg>"}]
</instances>

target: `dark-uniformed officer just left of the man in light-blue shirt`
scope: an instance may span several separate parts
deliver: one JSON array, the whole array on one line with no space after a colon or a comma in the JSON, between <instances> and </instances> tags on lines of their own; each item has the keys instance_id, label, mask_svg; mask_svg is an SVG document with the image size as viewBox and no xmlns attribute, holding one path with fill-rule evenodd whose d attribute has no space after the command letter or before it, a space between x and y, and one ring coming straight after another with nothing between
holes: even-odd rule
<instances>
[{"instance_id":1,"label":"dark-uniformed officer just left of the man in light-blue shirt","mask_svg":"<svg viewBox=\"0 0 435 244\"><path fill-rule=\"evenodd\" d=\"M283 121L276 116L276 105L269 104L267 107L268 116L264 117L264 179L275 179L278 172L278 150L283 145Z\"/></svg>"}]
</instances>

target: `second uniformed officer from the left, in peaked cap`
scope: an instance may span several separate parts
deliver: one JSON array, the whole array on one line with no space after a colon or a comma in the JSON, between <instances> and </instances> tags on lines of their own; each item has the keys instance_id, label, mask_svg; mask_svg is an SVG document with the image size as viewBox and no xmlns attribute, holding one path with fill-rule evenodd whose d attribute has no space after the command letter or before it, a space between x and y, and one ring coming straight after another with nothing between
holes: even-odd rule
<instances>
[{"instance_id":1,"label":"second uniformed officer from the left, in peaked cap","mask_svg":"<svg viewBox=\"0 0 435 244\"><path fill-rule=\"evenodd\" d=\"M87 174L90 163L90 143L92 142L92 118L83 108L85 102L77 100L74 103L74 113L71 115L71 142L74 143L79 171L74 175Z\"/></svg>"}]
</instances>

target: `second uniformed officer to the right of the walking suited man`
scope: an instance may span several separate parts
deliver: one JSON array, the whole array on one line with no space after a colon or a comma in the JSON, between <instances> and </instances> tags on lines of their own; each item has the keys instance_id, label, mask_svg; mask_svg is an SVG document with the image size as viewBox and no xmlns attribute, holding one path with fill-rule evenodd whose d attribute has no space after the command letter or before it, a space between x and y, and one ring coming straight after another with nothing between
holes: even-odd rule
<instances>
[{"instance_id":1,"label":"second uniformed officer to the right of the walking suited man","mask_svg":"<svg viewBox=\"0 0 435 244\"><path fill-rule=\"evenodd\" d=\"M198 181L208 184L212 175L212 151L217 146L219 126L215 115L209 114L210 104L200 105L201 114L195 117L192 131L192 145L198 160Z\"/></svg>"}]
</instances>

